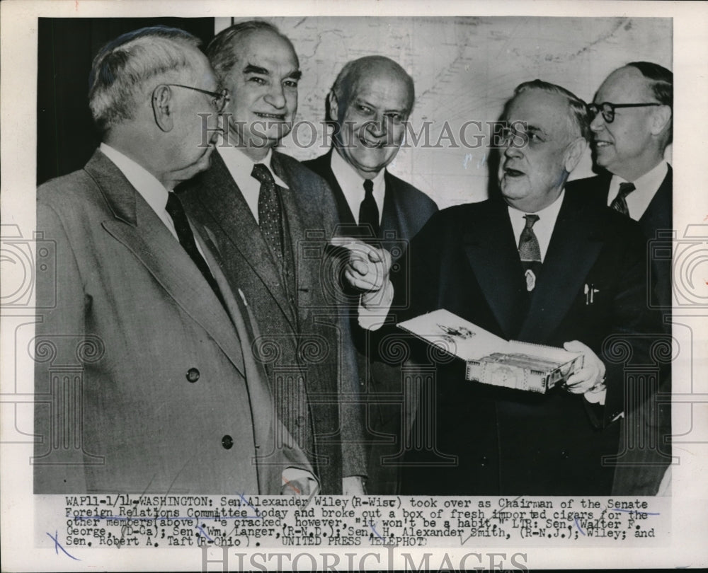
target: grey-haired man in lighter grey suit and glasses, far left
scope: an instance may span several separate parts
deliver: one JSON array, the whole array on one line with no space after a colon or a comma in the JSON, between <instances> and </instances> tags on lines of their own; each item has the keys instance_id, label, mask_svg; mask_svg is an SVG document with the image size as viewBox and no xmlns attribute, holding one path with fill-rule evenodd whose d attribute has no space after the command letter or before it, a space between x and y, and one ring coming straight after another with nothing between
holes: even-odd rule
<instances>
[{"instance_id":1,"label":"grey-haired man in lighter grey suit and glasses, far left","mask_svg":"<svg viewBox=\"0 0 708 573\"><path fill-rule=\"evenodd\" d=\"M226 96L198 44L159 26L105 45L89 81L101 147L38 189L55 280L37 287L35 493L316 487L297 446L273 451L287 430L246 302L173 192L209 165Z\"/></svg>"}]
</instances>

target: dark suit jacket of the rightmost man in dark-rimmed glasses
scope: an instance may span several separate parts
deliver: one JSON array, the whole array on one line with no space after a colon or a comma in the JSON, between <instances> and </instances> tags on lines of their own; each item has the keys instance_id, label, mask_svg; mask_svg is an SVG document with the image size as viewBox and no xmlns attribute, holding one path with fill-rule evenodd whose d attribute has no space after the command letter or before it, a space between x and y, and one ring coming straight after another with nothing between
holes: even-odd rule
<instances>
[{"instance_id":1,"label":"dark suit jacket of the rightmost man in dark-rimmed glasses","mask_svg":"<svg viewBox=\"0 0 708 573\"><path fill-rule=\"evenodd\" d=\"M600 204L607 204L612 174L604 172L596 177L571 181L566 187L572 192L594 197ZM671 166L656 194L639 219L639 226L646 238L644 256L651 260L651 276L656 279L656 288L647 289L652 306L663 311L664 330L671 333L671 247L673 241L673 171ZM665 253L669 253L668 255ZM649 282L648 287L651 287ZM670 366L670 365L669 365ZM670 369L666 369L658 391L668 396L671 393ZM634 434L634 435L632 435ZM620 465L615 472L615 495L655 495L661 485L666 467L671 461L670 403L656 405L646 402L636 415L622 422L619 443L624 448ZM638 439L641 436L641 439ZM651 446L649 446L651 444Z\"/></svg>"}]
</instances>

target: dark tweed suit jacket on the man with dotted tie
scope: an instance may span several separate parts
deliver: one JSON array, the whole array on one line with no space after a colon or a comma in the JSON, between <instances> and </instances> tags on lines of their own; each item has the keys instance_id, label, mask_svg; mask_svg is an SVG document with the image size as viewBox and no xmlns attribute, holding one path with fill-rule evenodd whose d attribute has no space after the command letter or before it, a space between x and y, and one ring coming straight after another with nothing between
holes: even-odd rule
<instances>
[{"instance_id":1,"label":"dark tweed suit jacket on the man with dotted tie","mask_svg":"<svg viewBox=\"0 0 708 573\"><path fill-rule=\"evenodd\" d=\"M358 371L348 323L336 306L325 245L336 226L331 191L299 161L273 152L287 260L283 276L221 156L181 190L188 213L214 233L224 274L244 291L261 329L258 355L268 371L278 415L316 468L321 493L341 492L347 475L365 475ZM347 398L349 395L349 398Z\"/></svg>"}]
</instances>

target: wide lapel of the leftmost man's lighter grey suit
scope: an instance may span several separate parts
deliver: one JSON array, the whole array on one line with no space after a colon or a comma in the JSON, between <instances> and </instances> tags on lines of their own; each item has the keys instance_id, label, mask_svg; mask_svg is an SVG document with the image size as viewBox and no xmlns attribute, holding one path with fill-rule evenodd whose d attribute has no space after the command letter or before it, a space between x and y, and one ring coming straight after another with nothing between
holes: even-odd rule
<instances>
[{"instance_id":1,"label":"wide lapel of the leftmost man's lighter grey suit","mask_svg":"<svg viewBox=\"0 0 708 573\"><path fill-rule=\"evenodd\" d=\"M96 181L113 212L102 226L129 249L183 311L217 342L234 366L244 373L232 322L190 256L120 170L100 152L86 171ZM130 277L126 277L130 280Z\"/></svg>"}]
</instances>

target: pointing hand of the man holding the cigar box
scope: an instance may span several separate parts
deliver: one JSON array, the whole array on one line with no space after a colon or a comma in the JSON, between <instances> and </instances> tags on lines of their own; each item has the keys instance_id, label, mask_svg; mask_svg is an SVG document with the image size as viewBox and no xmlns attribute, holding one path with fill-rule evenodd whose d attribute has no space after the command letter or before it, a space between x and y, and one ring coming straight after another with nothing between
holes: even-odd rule
<instances>
[{"instance_id":1,"label":"pointing hand of the man holding the cigar box","mask_svg":"<svg viewBox=\"0 0 708 573\"><path fill-rule=\"evenodd\" d=\"M377 249L350 237L334 237L330 244L349 250L344 277L351 287L362 293L378 293L387 286L391 255L386 249Z\"/></svg>"}]
</instances>

